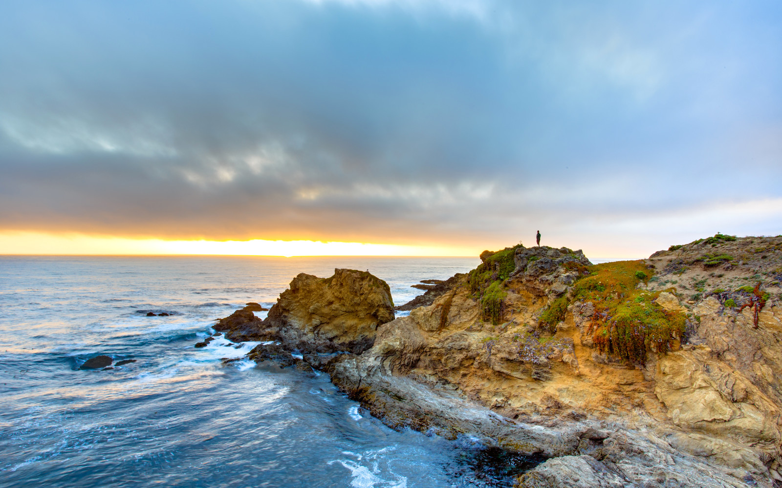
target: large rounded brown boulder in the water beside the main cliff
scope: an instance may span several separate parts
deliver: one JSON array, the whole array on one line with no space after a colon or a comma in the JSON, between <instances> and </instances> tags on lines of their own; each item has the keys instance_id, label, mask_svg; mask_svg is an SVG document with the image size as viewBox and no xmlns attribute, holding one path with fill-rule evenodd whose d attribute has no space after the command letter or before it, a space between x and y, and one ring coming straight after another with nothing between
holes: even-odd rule
<instances>
[{"instance_id":1,"label":"large rounded brown boulder in the water beside the main cliff","mask_svg":"<svg viewBox=\"0 0 782 488\"><path fill-rule=\"evenodd\" d=\"M378 326L394 319L388 284L369 272L335 269L318 278L300 273L271 307L264 328L286 347L361 354Z\"/></svg>"}]
</instances>

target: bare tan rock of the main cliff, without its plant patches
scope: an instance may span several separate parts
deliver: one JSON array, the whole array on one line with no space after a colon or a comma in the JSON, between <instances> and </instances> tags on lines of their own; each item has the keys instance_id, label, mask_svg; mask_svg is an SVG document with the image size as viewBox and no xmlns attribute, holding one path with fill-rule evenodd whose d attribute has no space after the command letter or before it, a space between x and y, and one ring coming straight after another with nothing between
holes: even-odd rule
<instances>
[{"instance_id":1,"label":"bare tan rock of the main cliff, without its plant patches","mask_svg":"<svg viewBox=\"0 0 782 488\"><path fill-rule=\"evenodd\" d=\"M760 310L755 327L752 309L726 307L727 295L701 294L690 305L676 296L677 288L660 293L657 305L690 317L683 346L675 340L668 354L650 351L645 365L627 364L595 348L590 301L572 302L555 330L540 326L554 298L568 296L583 276L576 253L513 253L497 325L484 319L472 272L432 305L380 326L375 345L361 356L336 358L329 365L333 381L394 426L470 431L458 415L447 414L442 395L458 398L458 408L490 408L518 429L534 426L541 433L534 439L490 434L501 447L555 457L520 486L772 486L782 468L782 308L776 298ZM762 262L779 257L766 253L770 258ZM494 270L497 279L503 262L492 255L482 255L483 272ZM657 266L662 281L665 265L655 258L648 264ZM758 271L731 269L734 280ZM654 290L659 281L639 286ZM440 407L417 403L432 396ZM600 422L608 437L573 437L578 426L595 427L590 422ZM549 437L559 439L551 444L556 448Z\"/></svg>"}]
</instances>

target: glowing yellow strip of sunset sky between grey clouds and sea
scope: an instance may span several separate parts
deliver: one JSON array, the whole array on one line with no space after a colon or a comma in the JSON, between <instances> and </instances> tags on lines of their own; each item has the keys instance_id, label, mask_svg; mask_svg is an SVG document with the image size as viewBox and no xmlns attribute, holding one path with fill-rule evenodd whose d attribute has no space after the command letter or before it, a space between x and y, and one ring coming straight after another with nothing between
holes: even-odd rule
<instances>
[{"instance_id":1,"label":"glowing yellow strip of sunset sky between grey clouds and sea","mask_svg":"<svg viewBox=\"0 0 782 488\"><path fill-rule=\"evenodd\" d=\"M0 233L5 255L465 256L474 249L319 240L163 240L77 233Z\"/></svg>"}]
</instances>

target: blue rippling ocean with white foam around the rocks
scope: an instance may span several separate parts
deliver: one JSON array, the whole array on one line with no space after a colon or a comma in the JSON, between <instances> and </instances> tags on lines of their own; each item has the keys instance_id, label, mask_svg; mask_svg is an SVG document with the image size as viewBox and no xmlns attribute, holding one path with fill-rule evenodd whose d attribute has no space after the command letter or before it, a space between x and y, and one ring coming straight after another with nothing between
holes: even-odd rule
<instances>
[{"instance_id":1,"label":"blue rippling ocean with white foam around the rocks","mask_svg":"<svg viewBox=\"0 0 782 488\"><path fill-rule=\"evenodd\" d=\"M389 429L325 373L221 364L250 343L193 347L299 272L369 270L400 305L478 263L0 256L0 486L510 486L490 451ZM79 369L97 354L136 362Z\"/></svg>"}]
</instances>

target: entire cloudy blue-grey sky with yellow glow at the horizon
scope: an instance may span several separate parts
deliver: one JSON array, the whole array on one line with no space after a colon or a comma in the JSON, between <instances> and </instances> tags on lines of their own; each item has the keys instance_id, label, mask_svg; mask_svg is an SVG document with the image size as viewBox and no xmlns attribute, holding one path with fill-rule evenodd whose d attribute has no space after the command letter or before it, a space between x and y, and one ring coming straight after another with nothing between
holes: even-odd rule
<instances>
[{"instance_id":1,"label":"entire cloudy blue-grey sky with yellow glow at the horizon","mask_svg":"<svg viewBox=\"0 0 782 488\"><path fill-rule=\"evenodd\" d=\"M780 46L776 1L4 0L0 254L777 235Z\"/></svg>"}]
</instances>

